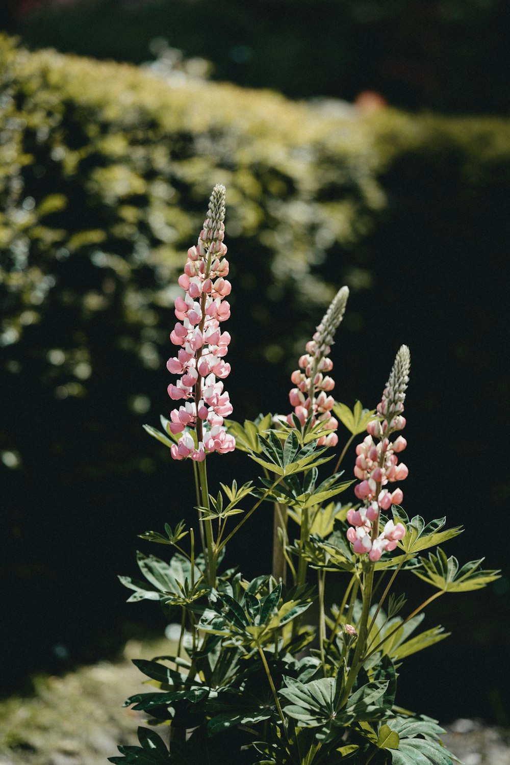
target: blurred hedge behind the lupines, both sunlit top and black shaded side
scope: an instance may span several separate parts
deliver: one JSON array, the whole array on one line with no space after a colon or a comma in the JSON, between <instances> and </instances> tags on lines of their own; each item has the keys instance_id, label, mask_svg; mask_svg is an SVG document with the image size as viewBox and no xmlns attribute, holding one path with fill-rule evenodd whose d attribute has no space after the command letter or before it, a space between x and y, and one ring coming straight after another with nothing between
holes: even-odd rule
<instances>
[{"instance_id":1,"label":"blurred hedge behind the lupines, both sunlit top and black shaded side","mask_svg":"<svg viewBox=\"0 0 510 765\"><path fill-rule=\"evenodd\" d=\"M466 523L460 558L505 562L505 535L480 513L493 524L510 496L495 467L508 429L508 120L367 115L181 74L0 40L5 691L161 629L154 604L123 604L115 575L135 573L136 534L193 517L189 466L141 424L170 409L176 277L216 182L236 418L288 411L297 357L348 284L336 397L375 405L408 343L406 510ZM252 477L245 463L219 457L213 473ZM270 565L270 510L247 526L229 562L242 555L255 575ZM453 613L431 609L429 627L456 633L434 654L456 716L508 721L508 667L496 677L491 659L508 630L504 573ZM402 705L452 715L450 698L408 675Z\"/></svg>"}]
</instances>

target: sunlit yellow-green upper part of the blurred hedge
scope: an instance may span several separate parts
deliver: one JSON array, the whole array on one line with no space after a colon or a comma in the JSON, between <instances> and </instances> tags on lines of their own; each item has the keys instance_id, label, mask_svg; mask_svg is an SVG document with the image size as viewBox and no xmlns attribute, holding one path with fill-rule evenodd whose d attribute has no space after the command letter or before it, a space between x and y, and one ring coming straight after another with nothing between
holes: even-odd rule
<instances>
[{"instance_id":1,"label":"sunlit yellow-green upper part of the blurred hedge","mask_svg":"<svg viewBox=\"0 0 510 765\"><path fill-rule=\"evenodd\" d=\"M446 159L468 197L509 182L503 119L331 116L275 93L171 87L135 67L0 39L0 342L18 343L57 307L66 339L46 334L38 349L57 398L86 393L95 323L113 322L117 347L160 366L175 278L216 182L228 189L232 267L269 362L282 349L265 337L268 306L317 315L339 282L371 285L359 252L388 205L381 177L403 158Z\"/></svg>"}]
</instances>

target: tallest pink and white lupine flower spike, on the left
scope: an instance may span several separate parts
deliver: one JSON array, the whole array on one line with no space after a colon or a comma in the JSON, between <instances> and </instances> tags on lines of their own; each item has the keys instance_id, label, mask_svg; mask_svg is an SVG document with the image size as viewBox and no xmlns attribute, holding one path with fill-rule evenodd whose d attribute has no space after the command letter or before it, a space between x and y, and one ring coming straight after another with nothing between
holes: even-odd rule
<instances>
[{"instance_id":1,"label":"tallest pink and white lupine flower spike, on the left","mask_svg":"<svg viewBox=\"0 0 510 765\"><path fill-rule=\"evenodd\" d=\"M171 448L174 460L191 457L202 461L207 452L223 454L236 446L223 426L223 418L232 413L229 394L221 382L230 372L229 363L223 360L230 335L222 332L219 325L230 316L225 298L232 289L226 279L229 262L223 243L223 220L225 187L217 184L197 246L188 250L184 274L179 277L185 295L175 300L177 324L170 338L179 351L177 357L167 361L167 369L180 375L180 379L177 385L168 386L168 395L183 403L171 412L170 429L174 434L183 431L184 434ZM196 431L197 446L191 429Z\"/></svg>"}]
</instances>

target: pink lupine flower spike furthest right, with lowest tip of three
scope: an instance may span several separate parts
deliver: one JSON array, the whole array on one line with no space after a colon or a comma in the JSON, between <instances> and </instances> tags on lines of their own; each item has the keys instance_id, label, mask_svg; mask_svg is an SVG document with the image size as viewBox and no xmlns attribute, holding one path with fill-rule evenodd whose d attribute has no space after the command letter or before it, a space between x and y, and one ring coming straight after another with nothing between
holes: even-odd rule
<instances>
[{"instance_id":1,"label":"pink lupine flower spike furthest right, with lowest tip of three","mask_svg":"<svg viewBox=\"0 0 510 765\"><path fill-rule=\"evenodd\" d=\"M390 436L401 431L405 425L404 412L405 390L409 382L411 355L406 345L400 347L395 363L382 394L382 401L377 406L379 419L369 422L367 435L356 447L356 466L354 474L359 478L354 493L363 506L358 510L350 509L347 520L352 528L347 532L347 539L352 543L352 550L359 555L369 553L371 561L378 561L383 552L390 552L397 546L405 534L401 523L390 520L379 533L381 510L388 510L391 505L399 505L404 498L399 488L390 491L388 483L404 480L408 468L398 464L397 454L404 451L407 441L398 435L394 441ZM384 487L384 488L383 488Z\"/></svg>"}]
</instances>

